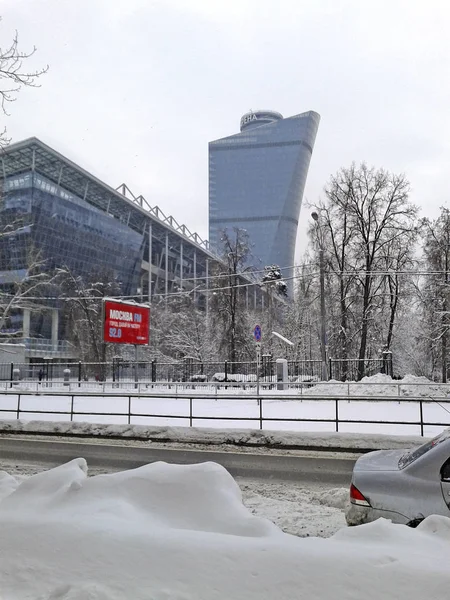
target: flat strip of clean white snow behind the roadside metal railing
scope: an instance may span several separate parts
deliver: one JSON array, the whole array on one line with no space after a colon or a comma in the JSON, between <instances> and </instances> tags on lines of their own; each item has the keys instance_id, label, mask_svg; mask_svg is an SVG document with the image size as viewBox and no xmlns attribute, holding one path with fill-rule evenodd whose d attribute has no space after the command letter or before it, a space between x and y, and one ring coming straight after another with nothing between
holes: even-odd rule
<instances>
[{"instance_id":1,"label":"flat strip of clean white snow behind the roadside metal railing","mask_svg":"<svg viewBox=\"0 0 450 600\"><path fill-rule=\"evenodd\" d=\"M223 395L205 398L195 397L196 390L178 397L170 397L163 391L152 397L126 396L117 390L106 396L89 392L84 396L69 395L60 390L60 395L54 396L42 388L39 394L21 393L20 418L69 421L72 411L74 421L119 425L127 423L130 412L131 425L259 429L262 416L263 429L333 432L338 416L341 432L420 435L418 423L422 416L425 436L437 435L450 425L449 386L426 383L424 378L412 376L399 383L379 374L360 383L321 383L303 390L301 396L291 394L287 399L277 399L272 391L272 397L263 396L261 406L245 390L239 394L234 390L229 398ZM25 390L15 390L19 391ZM371 400L373 396L386 400ZM422 398L422 404L413 398ZM1 418L16 419L18 403L18 393L0 394ZM345 422L359 420L371 422Z\"/></svg>"}]
</instances>

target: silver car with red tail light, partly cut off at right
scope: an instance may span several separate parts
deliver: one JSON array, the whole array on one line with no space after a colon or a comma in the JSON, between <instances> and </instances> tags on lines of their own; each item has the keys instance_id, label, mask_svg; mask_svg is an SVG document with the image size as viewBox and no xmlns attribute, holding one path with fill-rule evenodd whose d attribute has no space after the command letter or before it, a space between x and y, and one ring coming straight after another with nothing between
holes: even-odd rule
<instances>
[{"instance_id":1,"label":"silver car with red tail light, partly cut off at right","mask_svg":"<svg viewBox=\"0 0 450 600\"><path fill-rule=\"evenodd\" d=\"M385 517L414 527L429 515L450 517L450 429L419 448L369 452L356 461L348 525Z\"/></svg>"}]
</instances>

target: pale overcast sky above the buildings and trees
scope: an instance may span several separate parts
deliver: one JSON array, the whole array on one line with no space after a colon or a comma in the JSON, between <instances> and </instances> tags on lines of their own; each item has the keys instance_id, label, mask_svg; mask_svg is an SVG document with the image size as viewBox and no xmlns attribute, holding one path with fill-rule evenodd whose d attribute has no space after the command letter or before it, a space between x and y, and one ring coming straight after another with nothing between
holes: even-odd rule
<instances>
[{"instance_id":1,"label":"pale overcast sky above the buildings and trees","mask_svg":"<svg viewBox=\"0 0 450 600\"><path fill-rule=\"evenodd\" d=\"M450 198L446 0L1 0L50 65L5 120L207 237L208 142L249 109L321 124L306 200L352 161L404 172L422 214ZM297 259L304 249L302 208Z\"/></svg>"}]
</instances>

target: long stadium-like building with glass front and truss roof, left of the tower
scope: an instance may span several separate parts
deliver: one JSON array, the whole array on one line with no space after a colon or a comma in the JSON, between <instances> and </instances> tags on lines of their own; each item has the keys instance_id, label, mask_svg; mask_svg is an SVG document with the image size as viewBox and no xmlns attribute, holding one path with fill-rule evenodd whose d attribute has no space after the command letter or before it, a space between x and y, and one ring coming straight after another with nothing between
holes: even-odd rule
<instances>
[{"instance_id":1,"label":"long stadium-like building with glass front and truss roof, left of the tower","mask_svg":"<svg viewBox=\"0 0 450 600\"><path fill-rule=\"evenodd\" d=\"M3 293L27 275L32 254L45 272L67 268L89 281L103 274L139 301L190 293L208 310L208 274L220 264L208 242L125 184L108 186L36 138L0 153L0 226ZM261 306L261 289L245 281L248 305ZM75 358L62 304L33 302L1 322L3 341L23 342L28 359Z\"/></svg>"}]
</instances>

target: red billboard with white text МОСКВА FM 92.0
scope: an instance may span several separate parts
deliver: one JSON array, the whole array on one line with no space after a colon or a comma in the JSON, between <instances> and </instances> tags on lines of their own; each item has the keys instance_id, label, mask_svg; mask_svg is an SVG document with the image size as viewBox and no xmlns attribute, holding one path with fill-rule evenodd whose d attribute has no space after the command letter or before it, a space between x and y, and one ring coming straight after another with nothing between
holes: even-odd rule
<instances>
[{"instance_id":1,"label":"red billboard with white text \u041c\u041e\u0421\u041a\u0412\u0410 FM 92.0","mask_svg":"<svg viewBox=\"0 0 450 600\"><path fill-rule=\"evenodd\" d=\"M111 344L149 342L150 308L142 304L105 300L103 303L103 340Z\"/></svg>"}]
</instances>

